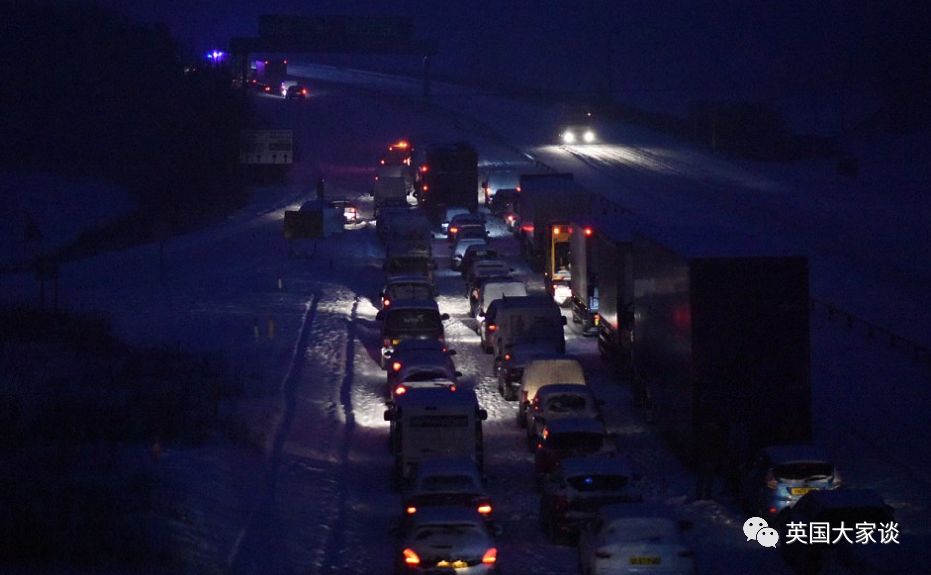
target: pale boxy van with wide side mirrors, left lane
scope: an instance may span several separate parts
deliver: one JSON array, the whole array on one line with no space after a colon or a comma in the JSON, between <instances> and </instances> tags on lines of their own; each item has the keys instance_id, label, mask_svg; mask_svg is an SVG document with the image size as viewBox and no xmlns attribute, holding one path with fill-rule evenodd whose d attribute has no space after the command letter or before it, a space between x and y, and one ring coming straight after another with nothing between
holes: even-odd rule
<instances>
[{"instance_id":1,"label":"pale boxy van with wide side mirrors, left lane","mask_svg":"<svg viewBox=\"0 0 931 575\"><path fill-rule=\"evenodd\" d=\"M397 486L412 478L422 461L467 457L482 470L482 421L488 419L488 412L479 407L474 391L411 389L397 396L384 416L391 424L389 441Z\"/></svg>"}]
</instances>

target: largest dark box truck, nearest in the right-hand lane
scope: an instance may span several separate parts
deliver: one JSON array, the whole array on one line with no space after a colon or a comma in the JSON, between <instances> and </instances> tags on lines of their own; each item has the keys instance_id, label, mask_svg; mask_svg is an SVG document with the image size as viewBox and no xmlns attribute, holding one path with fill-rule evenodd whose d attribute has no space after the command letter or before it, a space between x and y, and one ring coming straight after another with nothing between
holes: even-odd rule
<instances>
[{"instance_id":1,"label":"largest dark box truck, nearest in the right-hand lane","mask_svg":"<svg viewBox=\"0 0 931 575\"><path fill-rule=\"evenodd\" d=\"M638 228L631 246L631 361L648 414L705 470L810 440L807 258L667 232Z\"/></svg>"}]
</instances>

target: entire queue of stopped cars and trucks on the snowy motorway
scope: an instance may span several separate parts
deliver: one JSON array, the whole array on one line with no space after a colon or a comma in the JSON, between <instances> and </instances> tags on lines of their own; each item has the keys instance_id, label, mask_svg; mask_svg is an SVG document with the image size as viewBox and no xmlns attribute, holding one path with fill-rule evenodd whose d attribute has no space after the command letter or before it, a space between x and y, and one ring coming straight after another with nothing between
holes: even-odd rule
<instances>
[{"instance_id":1,"label":"entire queue of stopped cars and trucks on the snowy motorway","mask_svg":"<svg viewBox=\"0 0 931 575\"><path fill-rule=\"evenodd\" d=\"M402 502L396 573L508 565L498 544L508 522L486 467L500 448L483 433L489 394L510 406L526 443L538 507L525 515L549 543L577 547L581 573L701 571L693 522L643 488L606 425L618 397L600 397L593 375L629 389L634 411L694 473L696 500L723 483L783 539L803 520L894 520L877 493L839 489L830 454L811 442L806 258L640 222L570 173L521 174L491 191L467 143L400 140L375 170L386 480ZM335 202L337 219L356 226L361 210ZM451 346L454 314L438 303L447 297L467 300L457 319L474 337L456 339L477 342L475 352ZM567 336L597 349L597 373L567 353ZM485 358L482 373L457 369L466 352ZM782 545L781 555L808 572L836 547Z\"/></svg>"}]
</instances>

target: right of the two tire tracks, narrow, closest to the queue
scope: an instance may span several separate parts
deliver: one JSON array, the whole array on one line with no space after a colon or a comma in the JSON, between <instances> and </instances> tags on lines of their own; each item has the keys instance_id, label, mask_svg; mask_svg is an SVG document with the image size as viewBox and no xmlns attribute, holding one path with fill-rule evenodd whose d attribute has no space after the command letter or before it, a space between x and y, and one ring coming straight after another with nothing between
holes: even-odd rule
<instances>
[{"instance_id":1,"label":"right of the two tire tracks, narrow, closest to the queue","mask_svg":"<svg viewBox=\"0 0 931 575\"><path fill-rule=\"evenodd\" d=\"M352 311L346 326L346 365L343 373L343 382L339 388L339 404L343 410L345 424L343 427L343 440L339 449L339 495L336 501L336 519L331 525L330 534L324 547L324 560L321 573L339 573L337 567L341 550L346 546L346 516L347 502L349 500L349 451L352 444L352 435L355 431L356 420L352 410L352 383L356 357L356 313L359 309L360 297L357 295L352 302Z\"/></svg>"}]
</instances>

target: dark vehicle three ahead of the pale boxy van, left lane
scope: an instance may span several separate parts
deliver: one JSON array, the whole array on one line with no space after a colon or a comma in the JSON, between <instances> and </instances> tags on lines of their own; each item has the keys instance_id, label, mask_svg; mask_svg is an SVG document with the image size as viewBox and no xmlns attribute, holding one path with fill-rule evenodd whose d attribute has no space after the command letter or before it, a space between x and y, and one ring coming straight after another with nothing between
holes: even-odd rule
<instances>
[{"instance_id":1,"label":"dark vehicle three ahead of the pale boxy van, left lane","mask_svg":"<svg viewBox=\"0 0 931 575\"><path fill-rule=\"evenodd\" d=\"M387 369L394 347L405 339L431 339L446 342L441 314L433 300L403 300L380 310L375 319L381 322L381 367Z\"/></svg>"}]
</instances>

